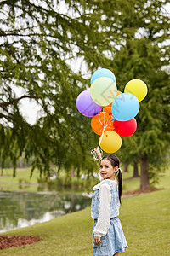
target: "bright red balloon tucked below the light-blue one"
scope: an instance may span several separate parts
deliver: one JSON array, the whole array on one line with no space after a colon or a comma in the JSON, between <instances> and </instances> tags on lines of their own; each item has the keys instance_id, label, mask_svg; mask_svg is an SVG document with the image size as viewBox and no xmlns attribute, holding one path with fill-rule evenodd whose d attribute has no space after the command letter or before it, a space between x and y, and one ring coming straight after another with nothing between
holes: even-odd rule
<instances>
[{"instance_id":1,"label":"bright red balloon tucked below the light-blue one","mask_svg":"<svg viewBox=\"0 0 170 256\"><path fill-rule=\"evenodd\" d=\"M122 137L129 137L133 135L137 128L136 119L130 119L128 121L122 122L114 120L113 122L114 130Z\"/></svg>"}]
</instances>

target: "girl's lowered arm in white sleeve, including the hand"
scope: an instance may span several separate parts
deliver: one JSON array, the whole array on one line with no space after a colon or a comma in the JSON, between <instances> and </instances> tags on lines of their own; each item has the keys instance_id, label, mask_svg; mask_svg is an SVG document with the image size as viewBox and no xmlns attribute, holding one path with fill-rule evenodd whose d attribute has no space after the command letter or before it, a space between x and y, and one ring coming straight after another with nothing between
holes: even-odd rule
<instances>
[{"instance_id":1,"label":"girl's lowered arm in white sleeve, including the hand","mask_svg":"<svg viewBox=\"0 0 170 256\"><path fill-rule=\"evenodd\" d=\"M94 243L99 244L100 237L109 230L111 219L111 186L101 185L99 189L99 218L94 228Z\"/></svg>"}]
</instances>

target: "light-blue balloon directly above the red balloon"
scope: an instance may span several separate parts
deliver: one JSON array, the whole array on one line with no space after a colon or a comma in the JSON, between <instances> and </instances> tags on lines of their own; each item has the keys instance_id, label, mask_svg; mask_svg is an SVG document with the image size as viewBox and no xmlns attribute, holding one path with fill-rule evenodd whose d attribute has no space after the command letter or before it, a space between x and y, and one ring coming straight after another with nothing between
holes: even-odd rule
<instances>
[{"instance_id":1,"label":"light-blue balloon directly above the red balloon","mask_svg":"<svg viewBox=\"0 0 170 256\"><path fill-rule=\"evenodd\" d=\"M139 113L139 100L132 93L122 93L114 99L111 111L117 121L128 121Z\"/></svg>"}]
</instances>

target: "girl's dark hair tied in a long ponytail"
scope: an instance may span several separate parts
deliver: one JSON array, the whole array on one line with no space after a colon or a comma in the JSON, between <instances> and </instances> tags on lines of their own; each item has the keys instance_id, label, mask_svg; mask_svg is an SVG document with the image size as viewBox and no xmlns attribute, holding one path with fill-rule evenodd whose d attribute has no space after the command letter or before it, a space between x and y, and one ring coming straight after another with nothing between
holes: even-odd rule
<instances>
[{"instance_id":1,"label":"girl's dark hair tied in a long ponytail","mask_svg":"<svg viewBox=\"0 0 170 256\"><path fill-rule=\"evenodd\" d=\"M113 168L116 166L118 166L119 168L120 160L115 154L106 154L101 160L103 159L110 160L111 166L113 166ZM117 177L118 177L118 183L119 183L119 201L121 202L122 201L122 172L120 169L118 170Z\"/></svg>"}]
</instances>

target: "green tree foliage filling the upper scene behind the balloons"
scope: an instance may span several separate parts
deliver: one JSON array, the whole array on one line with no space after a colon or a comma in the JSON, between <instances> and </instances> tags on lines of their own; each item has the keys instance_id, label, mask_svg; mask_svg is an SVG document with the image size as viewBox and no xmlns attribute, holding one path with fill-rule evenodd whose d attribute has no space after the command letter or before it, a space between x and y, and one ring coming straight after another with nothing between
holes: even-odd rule
<instances>
[{"instance_id":1,"label":"green tree foliage filling the upper scene behind the balloons","mask_svg":"<svg viewBox=\"0 0 170 256\"><path fill-rule=\"evenodd\" d=\"M141 102L138 130L133 138L123 140L118 155L133 159L140 151L158 166L169 140L166 3L1 2L1 159L9 157L15 168L20 155L26 160L33 156L32 172L38 167L41 174L49 174L51 163L68 171L75 166L77 173L82 167L92 172L96 163L90 151L98 138L89 119L77 112L76 99L88 88L89 74L108 67L116 74L119 90L135 78L149 86ZM79 63L88 76L81 65L76 70ZM26 98L41 109L34 125L20 111L20 102Z\"/></svg>"}]
</instances>

